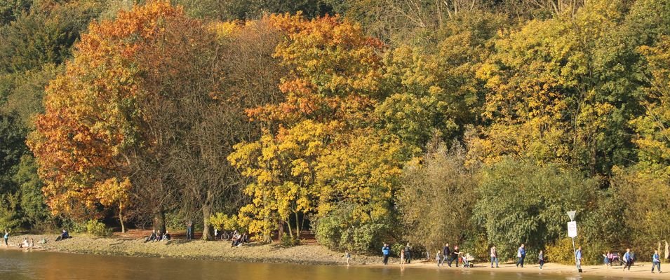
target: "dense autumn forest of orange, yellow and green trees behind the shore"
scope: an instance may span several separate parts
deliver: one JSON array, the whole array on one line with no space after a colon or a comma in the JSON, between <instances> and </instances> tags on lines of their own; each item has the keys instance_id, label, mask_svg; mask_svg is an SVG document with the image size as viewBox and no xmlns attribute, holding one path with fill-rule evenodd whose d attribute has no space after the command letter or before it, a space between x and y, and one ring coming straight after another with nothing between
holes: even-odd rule
<instances>
[{"instance_id":1,"label":"dense autumn forest of orange, yellow and green trees behind the shore","mask_svg":"<svg viewBox=\"0 0 670 280\"><path fill-rule=\"evenodd\" d=\"M0 228L670 240L669 0L0 3ZM394 250L397 251L397 250Z\"/></svg>"}]
</instances>

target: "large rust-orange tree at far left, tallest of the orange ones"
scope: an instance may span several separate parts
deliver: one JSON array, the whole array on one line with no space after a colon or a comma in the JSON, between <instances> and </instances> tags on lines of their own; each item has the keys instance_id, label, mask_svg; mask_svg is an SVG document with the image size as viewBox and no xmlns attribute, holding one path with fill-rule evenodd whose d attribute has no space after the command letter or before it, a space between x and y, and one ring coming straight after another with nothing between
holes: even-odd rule
<instances>
[{"instance_id":1,"label":"large rust-orange tree at far left, tallest of the orange ones","mask_svg":"<svg viewBox=\"0 0 670 280\"><path fill-rule=\"evenodd\" d=\"M170 149L197 121L175 117L188 97L213 99L203 85L214 38L161 1L91 24L47 88L29 142L55 214L94 217L100 204L122 210L126 195L156 217L172 205Z\"/></svg>"}]
</instances>

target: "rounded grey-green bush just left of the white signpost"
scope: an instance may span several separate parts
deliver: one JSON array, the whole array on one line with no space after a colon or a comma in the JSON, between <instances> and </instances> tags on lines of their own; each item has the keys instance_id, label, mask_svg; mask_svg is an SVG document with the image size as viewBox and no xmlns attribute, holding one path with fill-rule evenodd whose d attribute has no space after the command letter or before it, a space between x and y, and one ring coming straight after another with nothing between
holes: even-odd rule
<instances>
[{"instance_id":1,"label":"rounded grey-green bush just left of the white signpost","mask_svg":"<svg viewBox=\"0 0 670 280\"><path fill-rule=\"evenodd\" d=\"M597 185L569 169L507 158L483 170L477 192L476 220L501 257L512 258L520 244L532 255L564 236L565 212L589 213Z\"/></svg>"}]
</instances>

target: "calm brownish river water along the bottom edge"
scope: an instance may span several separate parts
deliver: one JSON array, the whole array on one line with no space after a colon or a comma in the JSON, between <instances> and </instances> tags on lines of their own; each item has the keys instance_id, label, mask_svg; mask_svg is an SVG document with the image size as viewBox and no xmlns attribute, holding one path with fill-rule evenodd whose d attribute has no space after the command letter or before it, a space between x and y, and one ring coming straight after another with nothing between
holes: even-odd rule
<instances>
[{"instance_id":1,"label":"calm brownish river water along the bottom edge","mask_svg":"<svg viewBox=\"0 0 670 280\"><path fill-rule=\"evenodd\" d=\"M406 268L401 270L398 267L288 265L0 250L0 279L602 280L608 278L595 276L582 277L549 274L516 274L511 272L477 272L474 269Z\"/></svg>"}]
</instances>

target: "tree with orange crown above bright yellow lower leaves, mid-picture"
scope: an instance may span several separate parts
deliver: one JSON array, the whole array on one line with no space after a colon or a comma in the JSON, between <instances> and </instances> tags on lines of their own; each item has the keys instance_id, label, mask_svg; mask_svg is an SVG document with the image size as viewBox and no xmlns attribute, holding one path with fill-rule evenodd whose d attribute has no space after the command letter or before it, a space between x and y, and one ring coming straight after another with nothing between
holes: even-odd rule
<instances>
[{"instance_id":1,"label":"tree with orange crown above bright yellow lower leaves, mid-picture","mask_svg":"<svg viewBox=\"0 0 670 280\"><path fill-rule=\"evenodd\" d=\"M249 225L251 232L267 237L279 220L288 225L290 237L298 238L306 216L325 216L338 201L356 202L356 195L361 195L365 203L380 199L363 195L365 192L391 194L392 184L382 182L394 172L376 174L365 161L324 165L349 161L349 148L382 143L381 139L358 142L354 136L375 133L366 127L374 121L373 109L380 97L383 48L347 20L305 20L300 15L275 16L272 20L286 32L286 39L275 53L290 69L279 85L283 100L249 111L252 118L264 124L262 137L238 144L229 160L253 179L245 190L253 203L241 209L241 223ZM375 153L370 159L380 156L382 162L394 153L375 151L380 154ZM394 162L387 165L392 167ZM357 173L351 174L354 170ZM357 185L355 182L367 178L359 178L363 174L379 177L376 183L371 182L372 186ZM333 176L345 177L337 180ZM369 216L370 211L380 209L361 213Z\"/></svg>"}]
</instances>

